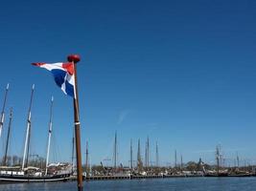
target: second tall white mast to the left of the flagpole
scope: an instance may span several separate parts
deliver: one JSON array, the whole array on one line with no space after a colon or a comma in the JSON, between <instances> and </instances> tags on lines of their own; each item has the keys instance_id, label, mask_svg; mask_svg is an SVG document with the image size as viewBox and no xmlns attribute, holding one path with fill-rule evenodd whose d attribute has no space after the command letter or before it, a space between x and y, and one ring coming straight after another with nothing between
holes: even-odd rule
<instances>
[{"instance_id":1,"label":"second tall white mast to the left of the flagpole","mask_svg":"<svg viewBox=\"0 0 256 191\"><path fill-rule=\"evenodd\" d=\"M28 164L28 159L29 159L29 144L30 144L30 133L31 133L31 108L32 108L32 101L34 96L34 90L35 90L35 84L33 84L32 92L31 92L31 100L30 100L30 107L29 107L29 114L28 114L28 121L27 121L27 133L26 133L26 140L25 140L23 160L22 160L22 170L24 170L24 167L25 167L25 160L26 160L26 163Z\"/></svg>"}]
</instances>

